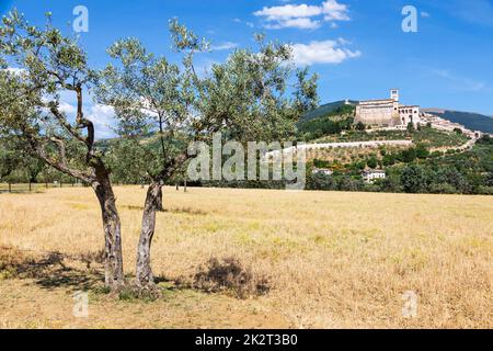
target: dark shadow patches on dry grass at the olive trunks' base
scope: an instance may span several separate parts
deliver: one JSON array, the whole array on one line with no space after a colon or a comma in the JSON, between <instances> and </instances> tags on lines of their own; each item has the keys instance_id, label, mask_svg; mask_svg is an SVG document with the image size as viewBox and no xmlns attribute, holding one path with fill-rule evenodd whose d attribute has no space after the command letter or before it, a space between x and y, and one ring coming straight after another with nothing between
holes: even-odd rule
<instances>
[{"instance_id":1,"label":"dark shadow patches on dry grass at the olive trunks' base","mask_svg":"<svg viewBox=\"0 0 493 351\"><path fill-rule=\"evenodd\" d=\"M93 291L108 293L104 288L104 274L101 268L91 264L102 263L102 252L89 252L69 256L60 252L45 252L43 256L28 256L26 251L0 247L0 281L4 279L33 280L34 284L55 290L58 287L72 291ZM83 268L85 265L85 268ZM80 268L79 268L80 267ZM131 276L127 275L127 282ZM121 299L156 299L156 296L174 294L177 291L192 290L199 293L226 293L237 298L261 296L271 290L266 276L257 275L236 258L210 259L200 265L193 276L170 280L156 276L154 283L159 294L149 296L136 291L133 284L119 292ZM31 282L30 282L31 284ZM154 296L156 295L156 296Z\"/></svg>"}]
</instances>

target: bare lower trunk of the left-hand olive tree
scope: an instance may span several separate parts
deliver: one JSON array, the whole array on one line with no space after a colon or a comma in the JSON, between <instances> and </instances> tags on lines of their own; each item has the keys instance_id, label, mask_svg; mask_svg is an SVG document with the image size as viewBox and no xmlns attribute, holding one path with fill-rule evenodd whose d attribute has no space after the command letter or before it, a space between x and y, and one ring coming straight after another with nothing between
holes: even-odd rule
<instances>
[{"instance_id":1,"label":"bare lower trunk of the left-hand olive tree","mask_svg":"<svg viewBox=\"0 0 493 351\"><path fill-rule=\"evenodd\" d=\"M110 179L92 184L101 205L104 228L104 283L112 291L125 285L122 252L122 230L116 199Z\"/></svg>"}]
</instances>

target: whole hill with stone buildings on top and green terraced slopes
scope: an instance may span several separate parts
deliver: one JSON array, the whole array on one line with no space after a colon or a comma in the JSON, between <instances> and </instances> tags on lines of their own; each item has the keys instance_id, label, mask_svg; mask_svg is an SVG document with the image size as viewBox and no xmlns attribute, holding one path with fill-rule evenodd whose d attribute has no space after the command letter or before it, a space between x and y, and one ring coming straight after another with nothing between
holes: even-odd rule
<instances>
[{"instance_id":1,"label":"whole hill with stone buildings on top and green terraced slopes","mask_svg":"<svg viewBox=\"0 0 493 351\"><path fill-rule=\"evenodd\" d=\"M420 105L402 104L398 89L390 90L389 99L345 100L319 111L298 124L299 138L305 143L295 147L306 151L312 189L491 191L488 165L492 135L437 116ZM423 184L406 188L402 180L411 172L423 173ZM445 178L444 172L448 172ZM470 183L463 180L467 178Z\"/></svg>"}]
</instances>

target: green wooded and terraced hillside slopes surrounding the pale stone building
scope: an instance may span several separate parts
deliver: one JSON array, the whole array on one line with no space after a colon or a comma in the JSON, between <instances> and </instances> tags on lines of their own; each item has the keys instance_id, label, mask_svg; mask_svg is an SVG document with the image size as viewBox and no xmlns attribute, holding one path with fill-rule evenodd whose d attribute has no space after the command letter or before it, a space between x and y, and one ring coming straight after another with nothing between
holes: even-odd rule
<instances>
[{"instance_id":1,"label":"green wooded and terraced hillside slopes surrounding the pale stone building","mask_svg":"<svg viewBox=\"0 0 493 351\"><path fill-rule=\"evenodd\" d=\"M440 111L433 112L439 113ZM362 131L354 125L353 114L354 105L335 102L312 111L298 124L300 140L308 144L328 144L326 147L312 148L307 152L309 167L332 171L330 176L309 172L308 189L493 193L493 169L491 167L493 145L490 138L485 137L479 140L471 148L472 145L467 135L437 131L428 125L422 125L417 129L411 131ZM454 121L451 117L448 120ZM463 121L457 123L471 128L470 122L468 120L466 123ZM344 147L334 146L341 143L390 140L412 140L414 146L362 147L358 144ZM387 178L383 181L365 184L362 171L368 168L383 169Z\"/></svg>"}]
</instances>

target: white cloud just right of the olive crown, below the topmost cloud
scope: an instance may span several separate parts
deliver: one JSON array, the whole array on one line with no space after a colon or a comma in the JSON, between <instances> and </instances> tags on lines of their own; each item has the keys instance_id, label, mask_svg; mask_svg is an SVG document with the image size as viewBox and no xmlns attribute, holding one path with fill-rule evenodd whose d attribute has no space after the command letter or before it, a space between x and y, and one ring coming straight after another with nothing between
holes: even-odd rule
<instances>
[{"instance_id":1,"label":"white cloud just right of the olive crown, below the topmost cloud","mask_svg":"<svg viewBox=\"0 0 493 351\"><path fill-rule=\"evenodd\" d=\"M359 50L352 52L343 46L342 39L313 41L310 44L293 45L294 63L299 66L314 64L341 64L346 59L362 56Z\"/></svg>"}]
</instances>

